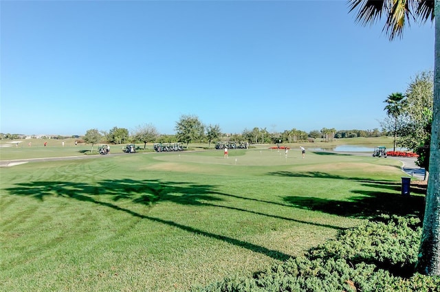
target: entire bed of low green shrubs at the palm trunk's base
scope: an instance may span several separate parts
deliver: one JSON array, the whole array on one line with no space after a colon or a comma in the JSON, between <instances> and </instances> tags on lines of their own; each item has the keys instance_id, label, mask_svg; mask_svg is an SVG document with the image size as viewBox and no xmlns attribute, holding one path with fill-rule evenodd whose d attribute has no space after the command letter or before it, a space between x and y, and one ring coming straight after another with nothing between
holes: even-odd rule
<instances>
[{"instance_id":1,"label":"entire bed of low green shrubs at the palm trunk's base","mask_svg":"<svg viewBox=\"0 0 440 292\"><path fill-rule=\"evenodd\" d=\"M440 277L401 277L412 274L420 236L419 219L382 216L252 278L228 278L192 291L440 291Z\"/></svg>"}]
</instances>

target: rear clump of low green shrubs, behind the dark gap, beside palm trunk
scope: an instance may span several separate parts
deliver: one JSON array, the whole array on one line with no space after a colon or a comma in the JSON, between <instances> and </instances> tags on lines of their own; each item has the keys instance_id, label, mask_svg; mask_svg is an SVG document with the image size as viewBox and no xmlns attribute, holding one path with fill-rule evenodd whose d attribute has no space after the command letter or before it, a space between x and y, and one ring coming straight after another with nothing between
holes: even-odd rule
<instances>
[{"instance_id":1,"label":"rear clump of low green shrubs, behind the dark gap, beside palm trunk","mask_svg":"<svg viewBox=\"0 0 440 292\"><path fill-rule=\"evenodd\" d=\"M366 221L311 249L309 257L366 262L398 276L410 276L417 262L420 236L418 218L382 216L379 221Z\"/></svg>"}]
</instances>

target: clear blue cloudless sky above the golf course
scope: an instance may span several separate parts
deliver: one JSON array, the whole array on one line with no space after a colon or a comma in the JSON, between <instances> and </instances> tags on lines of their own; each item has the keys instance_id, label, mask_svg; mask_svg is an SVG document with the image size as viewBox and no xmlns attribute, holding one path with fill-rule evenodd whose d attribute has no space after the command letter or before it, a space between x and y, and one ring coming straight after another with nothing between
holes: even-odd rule
<instances>
[{"instance_id":1,"label":"clear blue cloudless sky above the golf course","mask_svg":"<svg viewBox=\"0 0 440 292\"><path fill-rule=\"evenodd\" d=\"M434 67L434 27L388 41L346 1L1 1L3 133L83 135L181 115L223 133L380 128Z\"/></svg>"}]
</instances>

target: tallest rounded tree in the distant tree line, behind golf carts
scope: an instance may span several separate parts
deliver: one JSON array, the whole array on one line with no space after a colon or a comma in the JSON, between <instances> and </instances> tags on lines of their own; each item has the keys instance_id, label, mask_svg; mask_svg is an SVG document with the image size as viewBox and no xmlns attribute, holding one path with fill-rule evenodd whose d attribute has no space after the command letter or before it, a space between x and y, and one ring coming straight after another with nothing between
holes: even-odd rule
<instances>
[{"instance_id":1,"label":"tallest rounded tree in the distant tree line, behind golf carts","mask_svg":"<svg viewBox=\"0 0 440 292\"><path fill-rule=\"evenodd\" d=\"M199 140L203 137L205 126L200 122L197 115L181 115L180 120L175 126L176 137L180 142L188 144L191 141Z\"/></svg>"}]
</instances>

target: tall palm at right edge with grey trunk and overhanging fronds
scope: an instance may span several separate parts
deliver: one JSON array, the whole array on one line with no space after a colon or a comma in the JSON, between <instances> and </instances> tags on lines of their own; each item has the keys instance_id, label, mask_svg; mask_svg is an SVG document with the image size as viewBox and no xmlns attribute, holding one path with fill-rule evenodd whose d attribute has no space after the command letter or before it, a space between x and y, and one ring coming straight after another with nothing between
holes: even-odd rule
<instances>
[{"instance_id":1,"label":"tall palm at right edge with grey trunk and overhanging fronds","mask_svg":"<svg viewBox=\"0 0 440 292\"><path fill-rule=\"evenodd\" d=\"M435 23L434 104L430 142L430 177L426 190L423 231L417 271L440 276L440 0L348 0L350 12L358 10L356 21L362 25L386 17L384 31L393 40L401 37L410 20ZM434 11L437 12L434 15Z\"/></svg>"}]
</instances>

